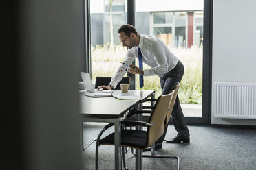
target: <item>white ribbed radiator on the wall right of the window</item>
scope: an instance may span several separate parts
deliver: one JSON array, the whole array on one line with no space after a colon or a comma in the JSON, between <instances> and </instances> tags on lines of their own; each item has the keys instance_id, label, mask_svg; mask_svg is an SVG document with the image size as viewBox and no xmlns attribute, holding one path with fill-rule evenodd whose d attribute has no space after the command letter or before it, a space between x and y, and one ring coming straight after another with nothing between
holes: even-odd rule
<instances>
[{"instance_id":1,"label":"white ribbed radiator on the wall right of the window","mask_svg":"<svg viewBox=\"0 0 256 170\"><path fill-rule=\"evenodd\" d=\"M255 83L214 83L214 117L256 119Z\"/></svg>"}]
</instances>

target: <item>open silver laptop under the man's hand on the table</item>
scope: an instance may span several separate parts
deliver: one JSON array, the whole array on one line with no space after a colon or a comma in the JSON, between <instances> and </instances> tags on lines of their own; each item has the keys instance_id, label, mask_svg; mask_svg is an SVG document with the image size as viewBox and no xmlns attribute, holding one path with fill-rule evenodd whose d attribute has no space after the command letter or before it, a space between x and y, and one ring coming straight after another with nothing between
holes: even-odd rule
<instances>
[{"instance_id":1,"label":"open silver laptop under the man's hand on the table","mask_svg":"<svg viewBox=\"0 0 256 170\"><path fill-rule=\"evenodd\" d=\"M80 72L83 80L83 85L85 86L86 96L89 97L109 97L112 96L113 90L97 90L92 86L92 80L89 73Z\"/></svg>"}]
</instances>

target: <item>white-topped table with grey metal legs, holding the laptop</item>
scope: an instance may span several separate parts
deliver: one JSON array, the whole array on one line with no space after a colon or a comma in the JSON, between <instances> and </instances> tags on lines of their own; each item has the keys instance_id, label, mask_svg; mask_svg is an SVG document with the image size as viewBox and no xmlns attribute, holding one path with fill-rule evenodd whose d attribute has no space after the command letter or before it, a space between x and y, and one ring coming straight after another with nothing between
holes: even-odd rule
<instances>
[{"instance_id":1,"label":"white-topped table with grey metal legs, holding the laptop","mask_svg":"<svg viewBox=\"0 0 256 170\"><path fill-rule=\"evenodd\" d=\"M118 100L114 97L92 98L80 92L80 113L82 122L107 122L114 123L115 128L115 169L122 169L121 164L121 125L120 121L125 112L131 108L142 110L142 102L154 96L153 90L129 90L129 93L138 95L140 99ZM138 116L141 120L141 116ZM142 169L142 153L136 151L136 169Z\"/></svg>"}]
</instances>

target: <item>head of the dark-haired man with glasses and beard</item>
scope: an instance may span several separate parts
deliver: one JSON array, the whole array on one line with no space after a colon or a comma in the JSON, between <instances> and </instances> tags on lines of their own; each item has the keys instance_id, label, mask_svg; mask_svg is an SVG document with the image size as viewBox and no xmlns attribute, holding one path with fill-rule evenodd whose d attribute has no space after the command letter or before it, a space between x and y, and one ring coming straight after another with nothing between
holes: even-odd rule
<instances>
[{"instance_id":1,"label":"head of the dark-haired man with glasses and beard","mask_svg":"<svg viewBox=\"0 0 256 170\"><path fill-rule=\"evenodd\" d=\"M131 49L132 47L138 46L140 42L140 35L133 25L122 25L118 29L119 39L123 46Z\"/></svg>"}]
</instances>

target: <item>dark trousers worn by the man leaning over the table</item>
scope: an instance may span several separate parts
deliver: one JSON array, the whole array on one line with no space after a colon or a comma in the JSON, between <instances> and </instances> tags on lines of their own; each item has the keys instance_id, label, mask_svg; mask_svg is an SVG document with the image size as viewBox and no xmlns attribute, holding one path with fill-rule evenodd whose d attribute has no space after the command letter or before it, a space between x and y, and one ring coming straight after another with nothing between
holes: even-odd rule
<instances>
[{"instance_id":1,"label":"dark trousers worn by the man leaning over the table","mask_svg":"<svg viewBox=\"0 0 256 170\"><path fill-rule=\"evenodd\" d=\"M184 66L180 60L178 60L178 64L164 75L160 75L160 84L162 88L162 95L167 95L171 93L171 91L175 88L175 82L180 82L182 80L184 74ZM171 113L171 117L173 119L173 125L175 130L180 133L189 132L189 129L186 125L186 121L184 119L184 115L182 112L182 108L180 106L180 100L177 95L175 104L173 106L173 112ZM165 135L167 133L168 125L164 128L164 134L156 141L156 143L162 143L164 141Z\"/></svg>"}]
</instances>

